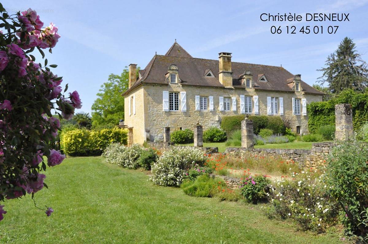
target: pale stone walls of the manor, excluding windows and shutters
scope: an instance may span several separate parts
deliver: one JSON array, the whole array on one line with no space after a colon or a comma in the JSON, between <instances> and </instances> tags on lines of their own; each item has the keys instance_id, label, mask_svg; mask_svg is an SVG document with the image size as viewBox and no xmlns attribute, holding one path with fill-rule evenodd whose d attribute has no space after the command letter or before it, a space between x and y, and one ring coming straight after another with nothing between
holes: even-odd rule
<instances>
[{"instance_id":1,"label":"pale stone walls of the manor, excluding windows and shutters","mask_svg":"<svg viewBox=\"0 0 368 244\"><path fill-rule=\"evenodd\" d=\"M169 111L162 109L163 91L186 92L187 111ZM283 97L284 115L280 115L284 121L296 132L296 127L300 126L302 134L308 133L308 115L293 115L292 98L306 98L307 103L322 101L322 96L305 94L303 92L269 92L259 91L253 88L244 89L224 89L216 87L194 87L178 84L143 85L133 90L129 96L125 96L125 125L134 128L134 142L142 144L145 139L145 131L150 132L150 141L163 141L163 127L170 127L174 130L191 129L197 123L206 130L211 126L220 127L221 118L229 115L240 115L240 95L258 96L259 113L267 115L267 97ZM135 96L136 114L129 115L129 101ZM213 96L214 111L196 111L195 96ZM235 97L236 111L219 111L219 97ZM232 104L231 104L232 105ZM253 104L254 106L254 104ZM252 112L254 114L254 111ZM268 115L276 116L276 115ZM278 116L278 115L277 115ZM137 136L136 136L137 134Z\"/></svg>"}]
</instances>

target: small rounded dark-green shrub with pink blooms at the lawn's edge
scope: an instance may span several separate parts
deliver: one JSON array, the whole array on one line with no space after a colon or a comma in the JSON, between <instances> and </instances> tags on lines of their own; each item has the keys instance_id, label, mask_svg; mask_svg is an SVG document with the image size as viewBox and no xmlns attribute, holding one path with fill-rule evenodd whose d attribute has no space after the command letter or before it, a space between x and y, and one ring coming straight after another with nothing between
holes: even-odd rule
<instances>
[{"instance_id":1,"label":"small rounded dark-green shrub with pink blooms at the lawn's edge","mask_svg":"<svg viewBox=\"0 0 368 244\"><path fill-rule=\"evenodd\" d=\"M246 177L240 184L241 194L252 203L267 201L270 180L265 175Z\"/></svg>"}]
</instances>

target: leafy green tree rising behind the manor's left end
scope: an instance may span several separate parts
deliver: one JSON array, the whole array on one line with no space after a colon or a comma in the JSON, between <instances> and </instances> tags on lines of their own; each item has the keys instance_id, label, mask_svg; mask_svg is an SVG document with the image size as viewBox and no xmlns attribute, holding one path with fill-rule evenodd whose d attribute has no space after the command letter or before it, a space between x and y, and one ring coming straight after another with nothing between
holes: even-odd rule
<instances>
[{"instance_id":1,"label":"leafy green tree rising behind the manor's left end","mask_svg":"<svg viewBox=\"0 0 368 244\"><path fill-rule=\"evenodd\" d=\"M137 68L138 77L139 67ZM124 119L124 97L121 96L129 87L129 71L125 69L121 75L110 74L103 83L98 98L92 104L92 127L111 127Z\"/></svg>"}]
</instances>

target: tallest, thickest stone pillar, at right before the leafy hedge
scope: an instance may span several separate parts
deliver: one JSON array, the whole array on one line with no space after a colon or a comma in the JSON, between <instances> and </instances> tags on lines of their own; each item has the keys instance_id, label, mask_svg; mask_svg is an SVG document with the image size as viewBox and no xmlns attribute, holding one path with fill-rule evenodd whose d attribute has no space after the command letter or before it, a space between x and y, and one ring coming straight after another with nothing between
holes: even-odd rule
<instances>
[{"instance_id":1,"label":"tallest, thickest stone pillar, at right before the leafy hedge","mask_svg":"<svg viewBox=\"0 0 368 244\"><path fill-rule=\"evenodd\" d=\"M354 138L351 104L342 103L335 105L335 126L336 140L346 141Z\"/></svg>"}]
</instances>

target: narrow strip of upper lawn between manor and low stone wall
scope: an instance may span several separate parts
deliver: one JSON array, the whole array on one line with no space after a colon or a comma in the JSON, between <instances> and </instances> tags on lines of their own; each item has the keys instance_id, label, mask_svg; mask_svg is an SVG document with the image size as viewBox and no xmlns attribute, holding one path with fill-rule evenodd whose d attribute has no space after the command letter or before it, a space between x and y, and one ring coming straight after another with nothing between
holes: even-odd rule
<instances>
[{"instance_id":1,"label":"narrow strip of upper lawn between manor and low stone wall","mask_svg":"<svg viewBox=\"0 0 368 244\"><path fill-rule=\"evenodd\" d=\"M204 147L218 147L219 152L223 153L226 150L226 142L217 142L217 143L203 143ZM193 143L189 144L181 144L181 146L194 146ZM231 146L233 147L233 146ZM312 142L305 141L293 141L288 143L280 143L280 144L265 144L262 146L254 146L254 148L283 148L283 149L312 149Z\"/></svg>"}]
</instances>

